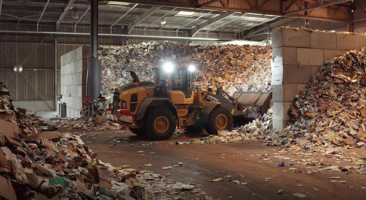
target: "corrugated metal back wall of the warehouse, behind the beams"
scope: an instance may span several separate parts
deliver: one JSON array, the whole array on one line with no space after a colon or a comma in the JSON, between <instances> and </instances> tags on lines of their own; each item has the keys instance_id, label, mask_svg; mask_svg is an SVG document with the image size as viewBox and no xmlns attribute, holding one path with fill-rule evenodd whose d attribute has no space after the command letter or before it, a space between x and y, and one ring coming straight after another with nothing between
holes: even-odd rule
<instances>
[{"instance_id":1,"label":"corrugated metal back wall of the warehouse, behind the beams","mask_svg":"<svg viewBox=\"0 0 366 200\"><path fill-rule=\"evenodd\" d=\"M1 30L36 31L37 26L32 23L0 23ZM40 31L53 31L52 25L40 25ZM72 24L62 24L60 32L74 32ZM76 32L89 32L88 25L78 25ZM107 26L99 28L99 33L110 33ZM120 26L115 26L112 33L123 34ZM145 34L144 28L136 27L131 34ZM146 35L155 36L176 36L176 31L171 29L147 29ZM187 30L178 31L178 36L188 37ZM199 33L195 37L206 37L206 33ZM209 38L235 39L233 34L207 34ZM146 39L130 39L128 44L138 44L147 42ZM158 41L158 40L157 40ZM164 40L160 40L164 41ZM187 43L187 41L178 41ZM60 69L60 56L70 52L82 45L89 44L89 37L58 37L57 38L57 69ZM213 45L217 42L194 42L194 44ZM99 38L101 45L123 45L121 38ZM55 100L55 38L43 36L22 36L22 35L1 35L0 37L0 81L7 83L12 99L15 101L36 101ZM15 64L22 64L25 69L21 74L15 74L13 67ZM36 70L34 70L36 69ZM60 83L60 70L57 70L57 82ZM33 86L32 86L33 85ZM60 86L58 84L58 95ZM45 104L46 106L46 104Z\"/></svg>"}]
</instances>

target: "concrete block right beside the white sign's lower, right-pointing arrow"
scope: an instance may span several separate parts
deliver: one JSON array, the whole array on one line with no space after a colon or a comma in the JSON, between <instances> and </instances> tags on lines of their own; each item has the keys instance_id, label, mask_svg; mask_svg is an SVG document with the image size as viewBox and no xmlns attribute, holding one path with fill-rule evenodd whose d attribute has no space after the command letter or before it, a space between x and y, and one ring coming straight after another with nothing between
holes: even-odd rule
<instances>
[{"instance_id":1,"label":"concrete block right beside the white sign's lower, right-pointing arrow","mask_svg":"<svg viewBox=\"0 0 366 200\"><path fill-rule=\"evenodd\" d=\"M310 66L283 66L283 83L284 84L307 84L311 75Z\"/></svg>"}]
</instances>

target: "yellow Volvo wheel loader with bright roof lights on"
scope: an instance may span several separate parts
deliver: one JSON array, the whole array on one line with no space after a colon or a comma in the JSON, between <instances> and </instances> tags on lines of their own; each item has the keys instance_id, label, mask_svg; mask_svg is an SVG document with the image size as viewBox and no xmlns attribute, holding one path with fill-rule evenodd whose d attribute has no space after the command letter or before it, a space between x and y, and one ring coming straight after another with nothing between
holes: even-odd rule
<instances>
[{"instance_id":1,"label":"yellow Volvo wheel loader with bright roof lights on","mask_svg":"<svg viewBox=\"0 0 366 200\"><path fill-rule=\"evenodd\" d=\"M127 126L138 136L166 140L176 128L187 132L217 134L230 130L233 120L261 116L269 108L272 93L236 92L229 96L221 87L216 93L202 91L195 67L165 63L154 67L154 82L133 81L116 89L107 119ZM234 95L234 96L235 96ZM239 102L237 99L242 99Z\"/></svg>"}]
</instances>

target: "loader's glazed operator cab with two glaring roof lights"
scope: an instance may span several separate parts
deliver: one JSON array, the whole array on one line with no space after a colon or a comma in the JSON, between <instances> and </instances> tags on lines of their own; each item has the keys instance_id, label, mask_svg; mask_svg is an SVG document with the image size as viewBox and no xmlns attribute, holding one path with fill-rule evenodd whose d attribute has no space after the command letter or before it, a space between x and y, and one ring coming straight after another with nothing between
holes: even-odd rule
<instances>
[{"instance_id":1,"label":"loader's glazed operator cab with two glaring roof lights","mask_svg":"<svg viewBox=\"0 0 366 200\"><path fill-rule=\"evenodd\" d=\"M168 80L169 99L173 104L192 104L194 99L193 81L195 67L164 63L156 67L155 82Z\"/></svg>"}]
</instances>

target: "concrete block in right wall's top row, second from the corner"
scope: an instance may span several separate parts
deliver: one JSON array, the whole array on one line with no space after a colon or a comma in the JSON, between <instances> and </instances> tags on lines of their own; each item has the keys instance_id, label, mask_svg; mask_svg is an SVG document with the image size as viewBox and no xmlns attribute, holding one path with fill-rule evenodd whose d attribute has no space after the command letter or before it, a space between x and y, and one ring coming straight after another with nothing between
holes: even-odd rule
<instances>
[{"instance_id":1,"label":"concrete block in right wall's top row, second from the corner","mask_svg":"<svg viewBox=\"0 0 366 200\"><path fill-rule=\"evenodd\" d=\"M313 31L310 33L310 48L336 49L336 34Z\"/></svg>"}]
</instances>

